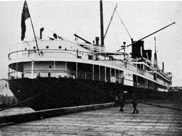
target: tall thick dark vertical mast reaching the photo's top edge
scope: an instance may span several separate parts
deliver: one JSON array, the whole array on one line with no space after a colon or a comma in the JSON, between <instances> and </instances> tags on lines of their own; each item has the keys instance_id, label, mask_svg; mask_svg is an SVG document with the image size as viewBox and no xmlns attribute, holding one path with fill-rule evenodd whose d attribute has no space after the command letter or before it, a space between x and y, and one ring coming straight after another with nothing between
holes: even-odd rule
<instances>
[{"instance_id":1,"label":"tall thick dark vertical mast reaching the photo's top edge","mask_svg":"<svg viewBox=\"0 0 182 136\"><path fill-rule=\"evenodd\" d=\"M103 5L102 0L100 0L100 37L101 37L101 47L104 47L104 21L103 21Z\"/></svg>"}]
</instances>

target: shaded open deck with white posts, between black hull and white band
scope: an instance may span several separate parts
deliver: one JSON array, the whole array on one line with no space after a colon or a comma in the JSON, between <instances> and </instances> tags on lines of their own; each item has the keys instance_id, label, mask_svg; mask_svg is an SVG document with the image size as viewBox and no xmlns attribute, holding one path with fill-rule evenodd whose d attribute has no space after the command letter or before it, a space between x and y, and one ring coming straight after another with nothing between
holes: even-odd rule
<instances>
[{"instance_id":1,"label":"shaded open deck with white posts, between black hull and white band","mask_svg":"<svg viewBox=\"0 0 182 136\"><path fill-rule=\"evenodd\" d=\"M25 78L33 75L34 77L66 77L120 84L123 84L124 80L123 71L121 70L86 63L35 61L14 63L10 65L10 69L12 77L15 75L15 78Z\"/></svg>"}]
</instances>

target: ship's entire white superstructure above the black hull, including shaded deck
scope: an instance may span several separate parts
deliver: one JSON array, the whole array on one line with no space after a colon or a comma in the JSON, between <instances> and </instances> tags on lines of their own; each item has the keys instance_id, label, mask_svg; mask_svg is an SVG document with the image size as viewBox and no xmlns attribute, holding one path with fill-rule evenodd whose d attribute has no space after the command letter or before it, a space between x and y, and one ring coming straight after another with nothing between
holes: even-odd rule
<instances>
[{"instance_id":1,"label":"ship's entire white superstructure above the black hull, including shaded deck","mask_svg":"<svg viewBox=\"0 0 182 136\"><path fill-rule=\"evenodd\" d=\"M104 76L105 81L107 76L114 76L125 78L126 81L131 82L130 85L133 85L133 82L138 82L133 81L134 76L137 76L147 82L164 86L168 86L171 82L167 76L154 79L155 71L152 68L144 68L146 63L136 65L131 58L124 59L126 54L102 52L103 48L100 46L78 44L68 40L38 40L38 45L39 51L34 41L23 42L11 48L8 55L9 68L13 69L9 71L11 77L22 78L23 74L24 77L35 78L40 72L44 77L48 76L48 73L59 77L60 73L65 75L71 72L75 73L74 77L77 78L78 72L84 73L84 77L87 77L86 75L95 74L94 69L98 69L97 73ZM71 68L72 66L69 67L68 63L72 63L74 69ZM81 64L84 64L87 70L80 68L82 71L79 71L78 67L83 67Z\"/></svg>"}]
</instances>

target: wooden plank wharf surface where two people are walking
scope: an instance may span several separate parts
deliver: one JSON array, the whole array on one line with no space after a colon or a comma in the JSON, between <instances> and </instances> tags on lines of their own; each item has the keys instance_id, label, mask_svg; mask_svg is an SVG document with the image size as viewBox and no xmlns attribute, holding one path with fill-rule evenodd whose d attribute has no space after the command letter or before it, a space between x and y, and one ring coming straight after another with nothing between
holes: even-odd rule
<instances>
[{"instance_id":1,"label":"wooden plank wharf surface where two people are walking","mask_svg":"<svg viewBox=\"0 0 182 136\"><path fill-rule=\"evenodd\" d=\"M173 104L162 104L173 107ZM182 111L139 104L132 114L131 104L46 118L0 128L0 135L61 136L181 136Z\"/></svg>"}]
</instances>

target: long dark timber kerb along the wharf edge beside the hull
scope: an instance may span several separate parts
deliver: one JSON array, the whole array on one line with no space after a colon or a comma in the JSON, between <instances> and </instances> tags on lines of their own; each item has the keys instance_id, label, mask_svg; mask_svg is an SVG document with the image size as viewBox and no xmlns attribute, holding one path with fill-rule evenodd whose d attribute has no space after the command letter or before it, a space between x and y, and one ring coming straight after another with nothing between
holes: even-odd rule
<instances>
[{"instance_id":1,"label":"long dark timber kerb along the wharf edge beside the hull","mask_svg":"<svg viewBox=\"0 0 182 136\"><path fill-rule=\"evenodd\" d=\"M28 121L40 120L43 118L50 118L50 117L55 117L59 115L66 115L66 114L71 114L76 112L108 108L113 105L114 105L114 102L111 102L111 103L103 103L103 104L47 109L47 110L34 111L34 112L28 112L23 114L0 116L0 127L6 124L25 123Z\"/></svg>"}]
</instances>

